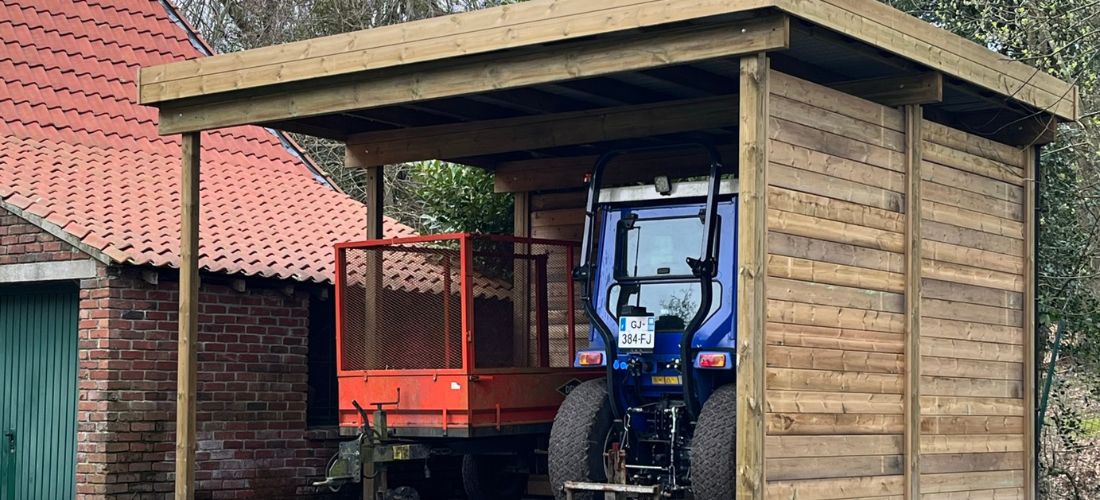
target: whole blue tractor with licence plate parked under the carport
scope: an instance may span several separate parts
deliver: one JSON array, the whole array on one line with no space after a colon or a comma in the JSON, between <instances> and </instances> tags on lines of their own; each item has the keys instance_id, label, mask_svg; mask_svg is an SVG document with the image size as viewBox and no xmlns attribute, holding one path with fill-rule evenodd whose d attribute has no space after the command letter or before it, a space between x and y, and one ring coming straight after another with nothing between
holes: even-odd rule
<instances>
[{"instance_id":1,"label":"whole blue tractor with licence plate parked under the carport","mask_svg":"<svg viewBox=\"0 0 1100 500\"><path fill-rule=\"evenodd\" d=\"M559 499L734 498L736 168L692 146L710 157L705 176L602 188L623 152L593 168L573 273L592 329L574 364L606 376L554 419Z\"/></svg>"}]
</instances>

